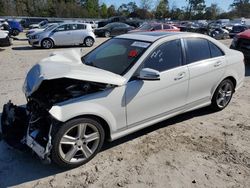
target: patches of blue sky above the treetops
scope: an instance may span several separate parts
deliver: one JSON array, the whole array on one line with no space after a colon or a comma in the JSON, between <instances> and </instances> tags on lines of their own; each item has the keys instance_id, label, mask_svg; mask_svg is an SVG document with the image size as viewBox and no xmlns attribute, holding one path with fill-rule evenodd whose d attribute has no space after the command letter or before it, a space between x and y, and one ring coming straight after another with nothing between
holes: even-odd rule
<instances>
[{"instance_id":1,"label":"patches of blue sky above the treetops","mask_svg":"<svg viewBox=\"0 0 250 188\"><path fill-rule=\"evenodd\" d=\"M128 3L130 1L136 2L138 6L140 6L141 1L140 0L100 0L100 3L106 3L108 6L115 5L116 7L119 7L122 3ZM159 2L159 0L152 0L152 4L155 5ZM211 3L217 3L218 6L224 10L227 11L229 9L229 5L232 4L233 0L205 0L206 5L210 6ZM176 5L177 7L183 7L186 6L186 0L169 0L170 7L173 5Z\"/></svg>"}]
</instances>

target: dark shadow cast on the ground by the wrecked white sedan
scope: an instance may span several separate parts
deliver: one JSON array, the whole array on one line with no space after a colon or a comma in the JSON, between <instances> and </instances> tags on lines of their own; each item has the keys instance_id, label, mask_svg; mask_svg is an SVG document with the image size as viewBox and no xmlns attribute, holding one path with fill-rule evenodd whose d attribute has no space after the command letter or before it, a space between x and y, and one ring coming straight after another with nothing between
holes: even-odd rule
<instances>
[{"instance_id":1,"label":"dark shadow cast on the ground by the wrecked white sedan","mask_svg":"<svg viewBox=\"0 0 250 188\"><path fill-rule=\"evenodd\" d=\"M131 141L140 136L167 127L169 125L173 125L178 122L189 120L193 117L203 116L211 113L212 111L209 108L203 108L176 116L111 143L106 142L103 146L102 151L111 149L112 147L126 143L127 141ZM27 183L48 176L56 175L65 171L66 170L60 169L53 164L42 164L37 157L32 156L30 153L22 153L20 151L11 149L3 141L0 141L0 187L16 186L22 183Z\"/></svg>"}]
</instances>

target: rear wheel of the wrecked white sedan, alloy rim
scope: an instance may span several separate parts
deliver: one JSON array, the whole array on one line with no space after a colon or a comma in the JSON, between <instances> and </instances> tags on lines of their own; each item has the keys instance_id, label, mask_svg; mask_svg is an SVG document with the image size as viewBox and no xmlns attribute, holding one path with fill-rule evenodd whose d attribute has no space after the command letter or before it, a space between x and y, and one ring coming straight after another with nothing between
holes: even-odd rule
<instances>
[{"instance_id":1,"label":"rear wheel of the wrecked white sedan, alloy rim","mask_svg":"<svg viewBox=\"0 0 250 188\"><path fill-rule=\"evenodd\" d=\"M211 107L215 111L223 110L230 103L234 93L234 84L230 79L223 80L216 88Z\"/></svg>"}]
</instances>

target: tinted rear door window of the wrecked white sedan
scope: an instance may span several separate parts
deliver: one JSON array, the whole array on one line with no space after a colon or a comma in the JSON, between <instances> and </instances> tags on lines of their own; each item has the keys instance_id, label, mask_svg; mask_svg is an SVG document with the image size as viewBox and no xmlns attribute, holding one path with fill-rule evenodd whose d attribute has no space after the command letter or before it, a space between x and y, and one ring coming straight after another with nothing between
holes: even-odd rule
<instances>
[{"instance_id":1,"label":"tinted rear door window of the wrecked white sedan","mask_svg":"<svg viewBox=\"0 0 250 188\"><path fill-rule=\"evenodd\" d=\"M193 63L210 58L208 41L201 38L186 39L187 62Z\"/></svg>"}]
</instances>

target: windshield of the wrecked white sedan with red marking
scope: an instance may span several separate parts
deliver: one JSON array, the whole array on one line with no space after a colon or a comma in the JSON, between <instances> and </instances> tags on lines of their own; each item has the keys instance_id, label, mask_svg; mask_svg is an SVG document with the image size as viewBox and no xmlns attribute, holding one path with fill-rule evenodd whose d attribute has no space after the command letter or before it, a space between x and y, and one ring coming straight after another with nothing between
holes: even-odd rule
<instances>
[{"instance_id":1,"label":"windshield of the wrecked white sedan with red marking","mask_svg":"<svg viewBox=\"0 0 250 188\"><path fill-rule=\"evenodd\" d=\"M124 75L150 44L149 42L113 38L82 57L82 62L89 66Z\"/></svg>"}]
</instances>

